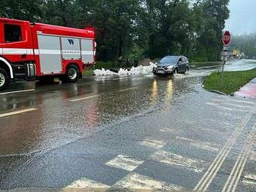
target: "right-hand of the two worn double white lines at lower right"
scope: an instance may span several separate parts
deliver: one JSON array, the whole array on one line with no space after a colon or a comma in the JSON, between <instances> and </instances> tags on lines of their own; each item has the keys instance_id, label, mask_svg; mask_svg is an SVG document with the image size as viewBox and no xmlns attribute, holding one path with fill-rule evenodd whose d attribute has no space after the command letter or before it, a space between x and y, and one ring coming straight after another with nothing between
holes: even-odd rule
<instances>
[{"instance_id":1,"label":"right-hand of the two worn double white lines at lower right","mask_svg":"<svg viewBox=\"0 0 256 192\"><path fill-rule=\"evenodd\" d=\"M222 192L234 192L237 188L237 183L240 180L241 173L244 170L245 163L247 162L247 158L250 154L251 147L254 143L255 125L250 135L248 136L247 144L246 146L244 146L243 152L240 153L240 156L237 158L237 161L230 173L230 176L227 179L227 182L225 183L225 186L223 187Z\"/></svg>"}]
</instances>

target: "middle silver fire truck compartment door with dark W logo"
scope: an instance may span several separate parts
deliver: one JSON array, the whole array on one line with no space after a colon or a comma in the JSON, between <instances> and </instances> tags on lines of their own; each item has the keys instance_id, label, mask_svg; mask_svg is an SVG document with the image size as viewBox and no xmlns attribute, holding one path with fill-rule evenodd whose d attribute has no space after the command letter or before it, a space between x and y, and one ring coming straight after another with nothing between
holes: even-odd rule
<instances>
[{"instance_id":1,"label":"middle silver fire truck compartment door with dark W logo","mask_svg":"<svg viewBox=\"0 0 256 192\"><path fill-rule=\"evenodd\" d=\"M81 60L80 40L61 37L62 57L64 60Z\"/></svg>"}]
</instances>

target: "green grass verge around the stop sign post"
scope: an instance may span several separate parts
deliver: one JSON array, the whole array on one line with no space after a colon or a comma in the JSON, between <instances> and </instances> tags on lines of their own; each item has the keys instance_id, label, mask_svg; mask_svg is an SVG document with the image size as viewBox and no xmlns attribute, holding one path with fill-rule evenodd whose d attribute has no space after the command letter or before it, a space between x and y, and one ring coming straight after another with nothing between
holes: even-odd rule
<instances>
[{"instance_id":1,"label":"green grass verge around the stop sign post","mask_svg":"<svg viewBox=\"0 0 256 192\"><path fill-rule=\"evenodd\" d=\"M233 94L255 77L256 68L244 71L227 71L223 74L223 84L221 84L221 72L216 72L206 77L204 87L208 91L215 90L225 94Z\"/></svg>"}]
</instances>

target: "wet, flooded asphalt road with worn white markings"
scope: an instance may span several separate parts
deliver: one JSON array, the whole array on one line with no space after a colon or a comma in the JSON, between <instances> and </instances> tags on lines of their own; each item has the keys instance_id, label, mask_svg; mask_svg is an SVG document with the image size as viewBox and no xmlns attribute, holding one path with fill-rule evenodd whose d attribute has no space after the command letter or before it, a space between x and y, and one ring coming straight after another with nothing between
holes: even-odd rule
<instances>
[{"instance_id":1,"label":"wet, flooded asphalt road with worn white markings","mask_svg":"<svg viewBox=\"0 0 256 192\"><path fill-rule=\"evenodd\" d=\"M205 91L216 70L12 84L0 190L255 191L256 100Z\"/></svg>"}]
</instances>

